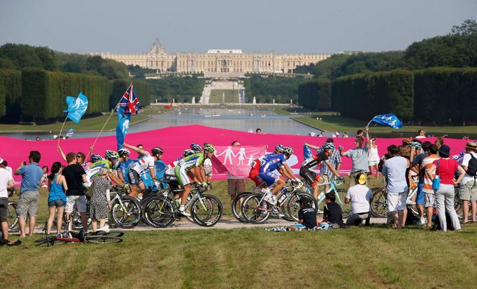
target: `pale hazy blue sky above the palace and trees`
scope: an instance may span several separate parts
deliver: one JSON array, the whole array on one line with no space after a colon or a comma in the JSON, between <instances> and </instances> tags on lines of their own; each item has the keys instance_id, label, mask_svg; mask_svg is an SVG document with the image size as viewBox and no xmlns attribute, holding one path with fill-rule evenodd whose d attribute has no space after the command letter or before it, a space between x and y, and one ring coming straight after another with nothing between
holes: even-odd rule
<instances>
[{"instance_id":1,"label":"pale hazy blue sky above the palace and trees","mask_svg":"<svg viewBox=\"0 0 477 289\"><path fill-rule=\"evenodd\" d=\"M0 0L0 45L62 52L405 50L477 20L475 0Z\"/></svg>"}]
</instances>

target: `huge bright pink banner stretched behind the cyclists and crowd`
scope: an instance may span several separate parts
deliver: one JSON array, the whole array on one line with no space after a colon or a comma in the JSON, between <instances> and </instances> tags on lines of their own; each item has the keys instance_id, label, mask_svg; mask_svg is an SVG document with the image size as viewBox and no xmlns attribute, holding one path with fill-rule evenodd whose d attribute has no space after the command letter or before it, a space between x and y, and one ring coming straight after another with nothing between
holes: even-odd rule
<instances>
[{"instance_id":1,"label":"huge bright pink banner stretched behind the cyclists and crowd","mask_svg":"<svg viewBox=\"0 0 477 289\"><path fill-rule=\"evenodd\" d=\"M372 128L370 135L372 136ZM170 163L175 160L184 149L188 149L192 142L203 144L211 142L215 147L227 147L234 140L238 140L243 147L264 147L269 146L268 151L273 151L276 144L293 147L294 155L290 157L287 163L292 170L298 174L301 162L303 161L303 144L308 142L317 146L321 146L327 138L316 138L305 135L277 135L277 134L260 134L246 133L242 131L232 131L221 128L211 128L208 126L173 126L169 128L157 129L154 131L146 131L141 133L131 133L127 135L126 142L129 144L143 144L150 150L152 147L162 147L164 149L164 162ZM434 142L436 138L425 138L422 141L429 140ZM354 147L354 138L334 138L336 147L342 145L345 150ZM467 140L455 140L445 138L445 143L450 146L450 154L459 154L467 142ZM61 140L60 145L65 153L68 151L83 151L87 153L92 145L94 138L80 138ZM378 138L379 156L386 153L386 148L390 144L401 144L401 138ZM0 136L0 157L8 161L8 165L15 170L22 161L28 161L28 154L31 150L37 150L41 153L40 165L48 165L50 167L53 162L61 161L61 157L57 152L57 140L43 140L34 142L28 140L19 140L15 138L6 138ZM114 135L99 138L94 153L104 156L106 149L115 149L116 138ZM236 154L236 149L233 149ZM223 151L219 151L219 154ZM314 152L314 151L313 151ZM132 158L136 158L136 153L132 153ZM223 156L223 155L222 155ZM222 156L219 156L222 157ZM247 154L248 156L248 154ZM224 156L225 158L225 156ZM245 162L245 159L243 160ZM64 162L63 162L64 163ZM341 165L341 173L350 172L350 158L343 157ZM20 181L20 177L15 176L15 181ZM214 175L213 179L226 179L227 172Z\"/></svg>"}]
</instances>

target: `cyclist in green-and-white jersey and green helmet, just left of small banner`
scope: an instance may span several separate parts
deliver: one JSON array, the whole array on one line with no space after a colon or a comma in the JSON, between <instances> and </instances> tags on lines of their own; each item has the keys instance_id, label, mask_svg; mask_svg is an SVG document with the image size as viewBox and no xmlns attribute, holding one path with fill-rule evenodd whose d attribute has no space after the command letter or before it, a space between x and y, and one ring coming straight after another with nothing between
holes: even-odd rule
<instances>
[{"instance_id":1,"label":"cyclist in green-and-white jersey and green helmet, just left of small banner","mask_svg":"<svg viewBox=\"0 0 477 289\"><path fill-rule=\"evenodd\" d=\"M213 144L204 144L204 152L198 152L197 154L192 154L191 156L187 156L179 161L178 165L175 167L174 171L176 173L176 177L178 182L181 186L183 186L184 191L182 193L181 200L180 200L180 207L179 213L183 216L190 216L188 212L185 212L185 201L190 194L192 189L189 176L187 175L188 172L192 173L194 176L193 179L196 182L199 182L201 186L205 188L208 187L208 184L205 182L203 171L201 167L204 165L204 161L207 158L211 158L214 154L215 147Z\"/></svg>"}]
</instances>

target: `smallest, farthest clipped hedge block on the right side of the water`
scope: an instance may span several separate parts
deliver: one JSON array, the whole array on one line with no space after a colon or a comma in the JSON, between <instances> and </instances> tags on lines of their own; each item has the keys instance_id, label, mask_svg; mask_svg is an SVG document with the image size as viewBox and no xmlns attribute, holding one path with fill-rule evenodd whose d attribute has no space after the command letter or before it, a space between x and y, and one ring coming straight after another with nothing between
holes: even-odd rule
<instances>
[{"instance_id":1,"label":"smallest, farthest clipped hedge block on the right side of the water","mask_svg":"<svg viewBox=\"0 0 477 289\"><path fill-rule=\"evenodd\" d=\"M298 87L298 101L304 108L329 110L332 108L332 84L325 78L304 82Z\"/></svg>"}]
</instances>

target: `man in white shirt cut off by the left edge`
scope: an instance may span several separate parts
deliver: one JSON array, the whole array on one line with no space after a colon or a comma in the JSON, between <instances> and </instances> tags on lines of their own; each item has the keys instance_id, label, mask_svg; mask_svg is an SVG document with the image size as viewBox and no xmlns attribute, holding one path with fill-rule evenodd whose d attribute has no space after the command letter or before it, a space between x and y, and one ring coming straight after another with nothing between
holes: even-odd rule
<instances>
[{"instance_id":1,"label":"man in white shirt cut off by the left edge","mask_svg":"<svg viewBox=\"0 0 477 289\"><path fill-rule=\"evenodd\" d=\"M15 243L8 241L8 188L13 188L13 177L11 173L6 170L6 165L3 162L3 159L0 158L0 223L2 233L2 237L0 238L0 246L13 246L15 244L20 245L22 243L19 241Z\"/></svg>"}]
</instances>

